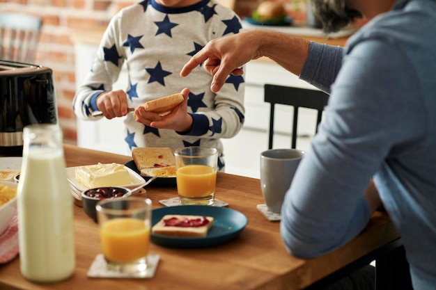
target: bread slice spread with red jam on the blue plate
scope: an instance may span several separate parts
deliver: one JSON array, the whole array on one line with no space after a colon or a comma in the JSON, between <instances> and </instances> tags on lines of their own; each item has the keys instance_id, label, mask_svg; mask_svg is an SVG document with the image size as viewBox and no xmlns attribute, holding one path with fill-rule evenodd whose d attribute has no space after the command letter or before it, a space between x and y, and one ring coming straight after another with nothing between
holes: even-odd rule
<instances>
[{"instance_id":1,"label":"bread slice spread with red jam on the blue plate","mask_svg":"<svg viewBox=\"0 0 436 290\"><path fill-rule=\"evenodd\" d=\"M201 237L208 234L213 222L212 216L167 214L153 225L151 232L165 236Z\"/></svg>"}]
</instances>

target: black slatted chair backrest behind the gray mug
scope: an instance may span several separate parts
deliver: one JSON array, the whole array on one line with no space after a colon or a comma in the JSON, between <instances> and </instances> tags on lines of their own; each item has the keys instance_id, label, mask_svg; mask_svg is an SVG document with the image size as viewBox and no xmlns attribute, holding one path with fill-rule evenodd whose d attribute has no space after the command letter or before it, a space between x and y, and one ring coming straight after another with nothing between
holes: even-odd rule
<instances>
[{"instance_id":1,"label":"black slatted chair backrest behind the gray mug","mask_svg":"<svg viewBox=\"0 0 436 290\"><path fill-rule=\"evenodd\" d=\"M320 90L311 90L309 88L294 88L288 86L277 86L265 84L265 102L271 104L270 108L270 129L268 131L268 149L272 149L272 138L274 136L274 108L276 104L289 105L294 107L293 127L291 148L297 145L297 120L298 109L312 108L318 111L315 132L318 131L318 125L322 119L322 112L327 105L329 95Z\"/></svg>"}]
</instances>

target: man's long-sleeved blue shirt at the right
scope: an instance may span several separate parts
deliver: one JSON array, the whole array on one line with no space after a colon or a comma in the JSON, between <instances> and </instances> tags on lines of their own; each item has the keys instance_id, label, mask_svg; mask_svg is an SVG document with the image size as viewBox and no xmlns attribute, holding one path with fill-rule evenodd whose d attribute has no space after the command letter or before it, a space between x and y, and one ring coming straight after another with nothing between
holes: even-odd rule
<instances>
[{"instance_id":1,"label":"man's long-sleeved blue shirt at the right","mask_svg":"<svg viewBox=\"0 0 436 290\"><path fill-rule=\"evenodd\" d=\"M300 77L331 96L283 203L288 250L323 255L357 236L373 178L414 289L436 289L436 1L398 1L345 49L312 43Z\"/></svg>"}]
</instances>

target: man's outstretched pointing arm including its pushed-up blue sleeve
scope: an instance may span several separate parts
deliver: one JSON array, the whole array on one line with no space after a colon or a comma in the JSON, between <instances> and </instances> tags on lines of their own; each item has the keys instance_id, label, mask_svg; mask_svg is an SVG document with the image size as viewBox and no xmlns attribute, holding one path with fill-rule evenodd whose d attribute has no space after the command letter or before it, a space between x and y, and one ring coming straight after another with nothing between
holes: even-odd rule
<instances>
[{"instance_id":1,"label":"man's outstretched pointing arm including its pushed-up blue sleeve","mask_svg":"<svg viewBox=\"0 0 436 290\"><path fill-rule=\"evenodd\" d=\"M309 42L277 31L244 31L212 40L185 64L187 76L199 64L212 74L211 89L217 92L228 74L241 75L245 63L266 56L320 90L330 91L342 64L343 48ZM308 58L309 56L309 58Z\"/></svg>"}]
</instances>

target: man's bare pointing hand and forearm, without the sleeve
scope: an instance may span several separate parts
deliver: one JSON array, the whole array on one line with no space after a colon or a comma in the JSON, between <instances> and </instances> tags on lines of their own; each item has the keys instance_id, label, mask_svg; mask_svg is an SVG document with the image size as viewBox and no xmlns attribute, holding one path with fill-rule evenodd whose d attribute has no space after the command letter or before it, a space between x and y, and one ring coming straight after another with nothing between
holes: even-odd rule
<instances>
[{"instance_id":1,"label":"man's bare pointing hand and forearm, without the sleeve","mask_svg":"<svg viewBox=\"0 0 436 290\"><path fill-rule=\"evenodd\" d=\"M212 74L213 92L224 85L229 74L241 75L240 67L252 59L267 56L289 72L299 75L309 54L309 41L277 31L244 31L208 42L182 68L180 75L187 76L194 68L205 63Z\"/></svg>"}]
</instances>

